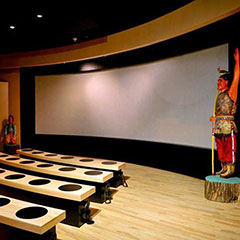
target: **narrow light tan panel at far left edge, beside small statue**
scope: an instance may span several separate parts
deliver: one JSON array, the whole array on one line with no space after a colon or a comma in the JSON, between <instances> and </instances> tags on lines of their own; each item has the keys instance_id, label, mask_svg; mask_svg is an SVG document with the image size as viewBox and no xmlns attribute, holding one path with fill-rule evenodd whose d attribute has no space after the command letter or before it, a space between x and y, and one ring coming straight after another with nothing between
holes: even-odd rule
<instances>
[{"instance_id":1,"label":"narrow light tan panel at far left edge, beside small statue","mask_svg":"<svg viewBox=\"0 0 240 240\"><path fill-rule=\"evenodd\" d=\"M0 150L3 150L4 127L8 118L8 83L0 78Z\"/></svg>"}]
</instances>

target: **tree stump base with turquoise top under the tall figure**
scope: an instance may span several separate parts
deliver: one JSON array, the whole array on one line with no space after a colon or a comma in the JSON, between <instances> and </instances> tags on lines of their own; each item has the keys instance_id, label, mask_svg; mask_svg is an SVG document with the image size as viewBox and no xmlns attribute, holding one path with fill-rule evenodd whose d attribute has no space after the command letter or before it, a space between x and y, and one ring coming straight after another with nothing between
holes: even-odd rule
<instances>
[{"instance_id":1,"label":"tree stump base with turquoise top under the tall figure","mask_svg":"<svg viewBox=\"0 0 240 240\"><path fill-rule=\"evenodd\" d=\"M216 202L236 202L240 200L240 178L222 178L210 175L205 178L205 198Z\"/></svg>"}]
</instances>

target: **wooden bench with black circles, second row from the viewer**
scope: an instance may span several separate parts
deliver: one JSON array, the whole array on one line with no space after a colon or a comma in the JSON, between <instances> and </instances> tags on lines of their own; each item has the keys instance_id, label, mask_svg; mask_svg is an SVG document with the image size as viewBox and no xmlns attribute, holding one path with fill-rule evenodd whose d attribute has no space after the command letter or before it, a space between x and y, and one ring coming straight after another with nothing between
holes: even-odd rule
<instances>
[{"instance_id":1,"label":"wooden bench with black circles, second row from the viewer","mask_svg":"<svg viewBox=\"0 0 240 240\"><path fill-rule=\"evenodd\" d=\"M95 187L0 169L0 194L66 210L64 223L80 227L89 220ZM88 218L86 218L88 217Z\"/></svg>"}]
</instances>

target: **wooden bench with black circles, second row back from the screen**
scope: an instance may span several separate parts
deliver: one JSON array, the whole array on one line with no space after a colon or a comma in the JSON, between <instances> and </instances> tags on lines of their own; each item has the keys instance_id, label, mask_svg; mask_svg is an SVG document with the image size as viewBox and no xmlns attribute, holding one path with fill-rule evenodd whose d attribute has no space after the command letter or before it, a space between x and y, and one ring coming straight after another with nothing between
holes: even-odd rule
<instances>
[{"instance_id":1,"label":"wooden bench with black circles, second row back from the screen","mask_svg":"<svg viewBox=\"0 0 240 240\"><path fill-rule=\"evenodd\" d=\"M90 197L90 201L105 202L109 201L111 191L108 180L113 177L112 172L96 171L93 169L68 167L58 164L43 164L40 161L19 158L13 155L7 155L0 152L0 164L10 170L26 170L34 173L40 173L40 176L49 177L51 175L59 180L74 181L77 183L94 185L96 192ZM25 172L26 172L25 171Z\"/></svg>"}]
</instances>

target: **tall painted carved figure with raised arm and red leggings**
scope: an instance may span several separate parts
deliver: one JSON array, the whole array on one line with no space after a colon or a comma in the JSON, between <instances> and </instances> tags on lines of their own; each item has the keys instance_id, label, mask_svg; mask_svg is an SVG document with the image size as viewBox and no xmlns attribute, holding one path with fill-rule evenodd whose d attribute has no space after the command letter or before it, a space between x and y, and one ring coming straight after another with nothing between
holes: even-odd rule
<instances>
[{"instance_id":1,"label":"tall painted carved figure with raised arm and red leggings","mask_svg":"<svg viewBox=\"0 0 240 240\"><path fill-rule=\"evenodd\" d=\"M218 159L222 169L216 172L221 177L231 177L235 172L237 141L237 127L234 122L234 114L237 107L238 82L239 82L239 50L234 53L234 75L219 69L219 79L216 96L215 110L210 117L213 123L212 134L215 137Z\"/></svg>"}]
</instances>

